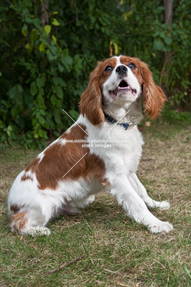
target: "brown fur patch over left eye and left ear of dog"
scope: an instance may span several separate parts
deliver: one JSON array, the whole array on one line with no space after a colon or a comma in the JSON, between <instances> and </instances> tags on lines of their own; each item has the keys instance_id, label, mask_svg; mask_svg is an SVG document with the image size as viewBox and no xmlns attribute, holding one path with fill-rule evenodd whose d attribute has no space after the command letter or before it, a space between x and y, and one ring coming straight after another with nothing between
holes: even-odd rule
<instances>
[{"instance_id":1,"label":"brown fur patch over left eye and left ear of dog","mask_svg":"<svg viewBox=\"0 0 191 287\"><path fill-rule=\"evenodd\" d=\"M115 68L116 58L98 62L97 67L90 74L87 89L82 93L80 100L80 113L93 125L100 125L104 121L102 108L102 87L112 71L105 71L107 66Z\"/></svg>"}]
</instances>

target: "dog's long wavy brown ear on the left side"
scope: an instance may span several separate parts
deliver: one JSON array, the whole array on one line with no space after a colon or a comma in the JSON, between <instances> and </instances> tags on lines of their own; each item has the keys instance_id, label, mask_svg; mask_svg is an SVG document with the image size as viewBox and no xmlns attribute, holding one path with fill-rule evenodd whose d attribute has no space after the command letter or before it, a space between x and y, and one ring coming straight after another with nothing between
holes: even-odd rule
<instances>
[{"instance_id":1,"label":"dog's long wavy brown ear on the left side","mask_svg":"<svg viewBox=\"0 0 191 287\"><path fill-rule=\"evenodd\" d=\"M100 125L104 121L102 110L102 94L99 87L100 69L99 63L90 74L87 89L82 93L80 100L80 113L93 124Z\"/></svg>"}]
</instances>

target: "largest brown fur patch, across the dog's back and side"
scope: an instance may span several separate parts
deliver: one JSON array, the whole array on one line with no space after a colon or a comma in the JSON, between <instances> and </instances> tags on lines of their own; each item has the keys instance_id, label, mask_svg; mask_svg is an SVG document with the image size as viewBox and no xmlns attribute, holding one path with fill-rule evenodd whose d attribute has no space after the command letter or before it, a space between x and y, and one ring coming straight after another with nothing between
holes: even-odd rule
<instances>
[{"instance_id":1,"label":"largest brown fur patch, across the dog's back and side","mask_svg":"<svg viewBox=\"0 0 191 287\"><path fill-rule=\"evenodd\" d=\"M86 129L85 125L80 124L80 126L83 130ZM89 154L89 147L82 147L82 144L88 143L62 143L62 139L85 140L86 133L81 128L77 125L71 127L69 132L66 131L60 137L60 142L55 142L46 148L40 162L36 158L25 169L25 171L31 170L36 174L39 189L49 188L55 190L59 181L77 180L79 177L85 179L96 178L105 186L109 185L107 179L105 179L104 161L95 154Z\"/></svg>"}]
</instances>

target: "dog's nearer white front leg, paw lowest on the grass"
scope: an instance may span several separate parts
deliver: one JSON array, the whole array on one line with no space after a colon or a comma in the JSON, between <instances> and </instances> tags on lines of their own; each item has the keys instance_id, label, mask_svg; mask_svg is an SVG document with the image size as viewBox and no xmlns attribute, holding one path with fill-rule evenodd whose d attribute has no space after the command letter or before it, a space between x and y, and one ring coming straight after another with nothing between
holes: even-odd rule
<instances>
[{"instance_id":1,"label":"dog's nearer white front leg, paw lowest on the grass","mask_svg":"<svg viewBox=\"0 0 191 287\"><path fill-rule=\"evenodd\" d=\"M156 218L147 208L147 205L130 184L127 176L120 176L120 180L113 181L110 189L112 196L126 211L127 215L136 222L142 223L152 232L169 232L173 226Z\"/></svg>"}]
</instances>

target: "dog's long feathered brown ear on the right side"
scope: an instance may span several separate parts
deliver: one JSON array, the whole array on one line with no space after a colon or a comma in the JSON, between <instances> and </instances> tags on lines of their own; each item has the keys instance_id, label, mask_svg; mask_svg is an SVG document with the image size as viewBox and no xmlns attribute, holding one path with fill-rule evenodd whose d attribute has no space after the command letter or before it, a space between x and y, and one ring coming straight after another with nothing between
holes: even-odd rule
<instances>
[{"instance_id":1,"label":"dog's long feathered brown ear on the right side","mask_svg":"<svg viewBox=\"0 0 191 287\"><path fill-rule=\"evenodd\" d=\"M152 73L145 63L141 63L141 74L144 112L153 120L160 114L166 96L163 90L154 83Z\"/></svg>"}]
</instances>

